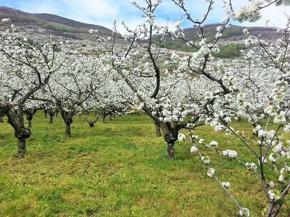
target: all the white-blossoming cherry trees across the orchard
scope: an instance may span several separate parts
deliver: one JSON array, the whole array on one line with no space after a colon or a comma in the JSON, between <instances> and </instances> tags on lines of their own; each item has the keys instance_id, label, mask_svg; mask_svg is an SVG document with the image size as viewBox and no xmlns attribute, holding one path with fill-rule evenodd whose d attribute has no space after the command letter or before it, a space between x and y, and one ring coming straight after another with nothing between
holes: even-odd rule
<instances>
[{"instance_id":1,"label":"all the white-blossoming cherry trees across the orchard","mask_svg":"<svg viewBox=\"0 0 290 217\"><path fill-rule=\"evenodd\" d=\"M18 155L24 156L25 139L31 134L23 122L26 104L48 103L51 108L58 109L66 124L67 136L70 136L73 114L102 107L110 115L111 111L123 111L126 104L143 110L154 121L157 135L162 130L169 159L174 158L177 139L193 143L191 151L197 152L208 167L207 176L217 180L241 215L249 216L248 210L228 191L229 183L215 176L214 169L209 167L210 159L199 151L199 145L244 165L261 184L268 203L265 216L276 216L290 188L290 144L282 135L290 129L286 123L290 105L290 18L287 17L286 28L279 30L281 38L275 43L263 41L262 36L252 36L244 29L247 47L246 51L241 50L244 62L224 65L212 54L219 51L218 39L231 19L254 21L260 16L260 9L272 3L288 5L290 1L255 0L233 10L231 0L223 0L225 17L216 28L215 40L207 41L203 25L214 1L206 0L207 10L200 18L193 18L185 0L172 0L183 11L183 16L199 28L197 42L185 38L182 19L176 21L173 32L167 25L155 24L154 13L161 1L137 3L131 0L143 12L144 20L135 29L122 21L126 29L122 35L127 43L126 50L116 49L115 22L113 34L107 39L100 37L96 30L89 30L107 50L98 57L78 55L69 46L64 49L65 45L55 43L52 37L46 44L31 45L28 39L17 37L14 26L11 26L12 32L7 30L3 34L0 38L4 60L0 71L0 110L14 128ZM153 44L153 38L160 33L160 43L171 37L197 51L182 56L161 55L160 46ZM145 49L139 43L144 40L147 42ZM60 51L56 52L56 48ZM254 126L257 140L244 135L243 129L230 126L233 118L240 117L247 118ZM261 126L263 117L267 117L267 121ZM275 130L269 129L270 122L275 124ZM215 141L206 143L194 135L194 129L204 124L237 137L257 159L257 165L238 158L234 150L219 150ZM178 133L180 129L189 130L187 139ZM276 173L279 176L273 178Z\"/></svg>"}]
</instances>

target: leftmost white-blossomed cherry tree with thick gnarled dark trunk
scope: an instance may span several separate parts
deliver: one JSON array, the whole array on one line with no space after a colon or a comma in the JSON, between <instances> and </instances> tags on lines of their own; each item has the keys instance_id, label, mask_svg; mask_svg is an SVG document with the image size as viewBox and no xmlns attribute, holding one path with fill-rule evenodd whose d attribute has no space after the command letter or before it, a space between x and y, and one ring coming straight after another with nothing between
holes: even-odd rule
<instances>
[{"instance_id":1,"label":"leftmost white-blossomed cherry tree with thick gnarled dark trunk","mask_svg":"<svg viewBox=\"0 0 290 217\"><path fill-rule=\"evenodd\" d=\"M66 61L62 48L56 52L59 47L62 44L54 42L52 36L48 42L35 44L28 38L19 38L13 24L0 37L0 110L18 139L18 157L24 157L25 141L31 135L23 121L25 103Z\"/></svg>"}]
</instances>

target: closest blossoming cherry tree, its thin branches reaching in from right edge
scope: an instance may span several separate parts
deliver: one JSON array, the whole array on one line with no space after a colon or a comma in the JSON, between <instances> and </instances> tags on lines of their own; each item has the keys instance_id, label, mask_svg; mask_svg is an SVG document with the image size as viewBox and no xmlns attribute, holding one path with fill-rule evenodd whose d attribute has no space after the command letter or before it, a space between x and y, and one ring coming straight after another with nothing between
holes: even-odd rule
<instances>
[{"instance_id":1,"label":"closest blossoming cherry tree, its thin branches reaching in from right edge","mask_svg":"<svg viewBox=\"0 0 290 217\"><path fill-rule=\"evenodd\" d=\"M227 12L228 17L231 16L241 21L254 21L259 18L261 8L274 2L277 5L290 3L289 1L267 1L266 4L263 4L263 1L252 1L251 4L233 11L229 1L227 6L225 4L225 8L229 11ZM184 2L175 1L175 3L183 8L187 18L188 16L190 18ZM256 162L248 162L247 158L240 157L235 150L220 150L216 141L204 141L198 135L194 135L194 126L189 130L189 139L186 139L184 134L178 136L181 141L193 143L190 151L198 154L208 169L207 176L214 178L219 183L238 207L240 216L249 216L249 210L242 207L229 192L230 183L219 180L215 170L210 166L210 158L200 151L200 147L233 159L253 173L260 183L268 203L263 215L266 217L278 215L282 205L288 200L286 197L290 188L290 167L288 165L290 141L283 135L283 133L289 133L289 124L286 121L290 116L290 19L287 18L287 26L285 29L278 29L281 38L277 39L275 43L262 40L261 35L252 36L247 29L244 29L243 31L247 35L245 39L247 50L241 50L241 53L245 62L236 64L236 60L234 60L230 66L224 66L222 61L219 61L217 67L220 70L214 72L214 76L220 78L219 82L228 90L228 93L218 95L218 97L213 96L214 101L207 105L208 115L205 118L205 124L212 126L215 131L238 138L240 143L247 148L244 156L251 154ZM182 29L179 32L182 32ZM179 35L181 33L178 35L172 33L174 38ZM210 78L210 80L212 79ZM246 118L255 127L253 132L257 134L258 138L252 139L244 133L244 129L234 129L231 126L232 119L238 117ZM260 120L264 117L266 123L261 125ZM271 122L273 127L270 126ZM240 125L241 127L242 125Z\"/></svg>"}]
</instances>

